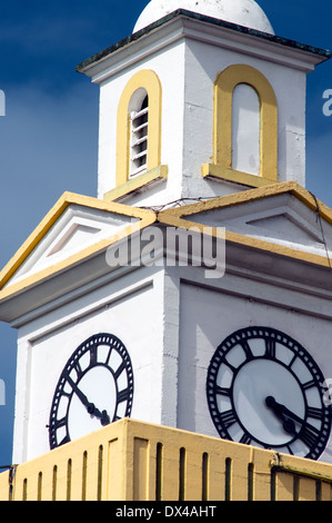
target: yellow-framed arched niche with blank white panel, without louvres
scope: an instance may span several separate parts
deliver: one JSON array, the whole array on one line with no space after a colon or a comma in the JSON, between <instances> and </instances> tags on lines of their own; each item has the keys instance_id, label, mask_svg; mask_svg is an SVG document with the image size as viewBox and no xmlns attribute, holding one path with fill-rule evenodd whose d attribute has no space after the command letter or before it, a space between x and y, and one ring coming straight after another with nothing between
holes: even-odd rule
<instances>
[{"instance_id":1,"label":"yellow-framed arched niche with blank white panel, without louvres","mask_svg":"<svg viewBox=\"0 0 332 523\"><path fill-rule=\"evenodd\" d=\"M214 82L213 157L202 176L263 187L278 181L278 103L258 69L233 65Z\"/></svg>"}]
</instances>

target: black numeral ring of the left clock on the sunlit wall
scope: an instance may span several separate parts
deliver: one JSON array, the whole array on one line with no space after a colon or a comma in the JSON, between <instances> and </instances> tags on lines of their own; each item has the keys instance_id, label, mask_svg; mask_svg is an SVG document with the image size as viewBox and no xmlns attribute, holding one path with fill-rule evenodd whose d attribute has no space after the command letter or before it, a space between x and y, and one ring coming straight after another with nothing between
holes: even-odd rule
<instances>
[{"instance_id":1,"label":"black numeral ring of the left clock on the sunlit wall","mask_svg":"<svg viewBox=\"0 0 332 523\"><path fill-rule=\"evenodd\" d=\"M91 351L93 351L94 354L97 354L97 349L99 345L109 347L109 354L108 354L108 357L105 358L105 362L99 362L97 356L95 356L95 359L94 359L94 356L93 358L91 357L91 354L92 354ZM112 368L112 366L109 365L112 351L115 351L119 357L121 358L121 363L117 365L115 368ZM77 368L78 368L79 361L89 352L90 352L90 358L91 358L90 363L87 366L87 368L84 368L80 374L78 374ZM70 415L70 406L71 406L72 398L76 392L72 388L70 393L64 393L64 387L68 384L69 375L73 371L76 371L78 375L78 379L76 381L76 386L78 386L79 388L80 382L84 378L84 376L87 376L89 371L95 369L98 367L105 368L114 381L117 397L115 397L114 413L113 413L112 420L110 420L110 423L117 420L120 420L121 417L130 417L131 411L132 411L133 385L134 385L133 384L133 369L132 369L130 355L124 344L115 335L110 334L110 333L93 334L92 336L89 336L84 342L82 342L77 347L77 349L71 354L71 356L67 361L61 372L60 378L56 386L56 391L54 391L54 395L53 395L53 399L51 404L51 409L50 409L49 425L48 425L49 443L50 443L51 450L57 448L63 445L64 443L69 443L70 441L72 441L70 437L70 431L69 431L69 415ZM124 389L123 388L119 389L118 379L122 375L123 372L125 372L125 375L127 375L127 386ZM125 395L123 394L123 392L125 392ZM61 397L63 395L68 397L68 406L67 406L66 415L62 416L60 420L58 420L58 409L59 409ZM119 405L123 404L124 402L127 402L124 414L122 414L121 416L118 416L117 412L118 412ZM60 428L60 426L58 426L59 422L62 422L62 426L66 427L66 436L61 438L60 442L58 441L58 436L57 436L57 432ZM100 427L102 427L102 424L100 425Z\"/></svg>"}]
</instances>

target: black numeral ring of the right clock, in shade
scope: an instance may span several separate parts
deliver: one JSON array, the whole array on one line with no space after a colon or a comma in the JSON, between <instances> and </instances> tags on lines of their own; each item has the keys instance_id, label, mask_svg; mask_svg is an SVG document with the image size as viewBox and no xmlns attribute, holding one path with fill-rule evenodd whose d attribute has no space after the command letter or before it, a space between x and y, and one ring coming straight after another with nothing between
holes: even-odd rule
<instances>
[{"instance_id":1,"label":"black numeral ring of the right clock, in shade","mask_svg":"<svg viewBox=\"0 0 332 523\"><path fill-rule=\"evenodd\" d=\"M249 430L241 423L238 413L237 413L237 406L234 404L234 398L233 398L233 386L235 383L235 378L239 375L239 372L241 368L243 368L249 362L253 361L271 361L275 362L278 364L284 365L284 367L290 372L293 377L298 381L302 394L303 394L303 399L304 399L304 407L305 407L305 416L303 420L303 425L306 425L308 418L311 417L309 416L309 404L308 399L304 394L304 387L303 384L300 382L296 374L292 371L291 364L286 365L285 363L282 363L280 359L276 359L275 355L271 354L268 357L268 344L266 339L274 341L275 343L281 343L282 345L286 346L286 348L291 349L294 354L294 359L299 357L302 363L306 366L309 369L310 374L312 375L314 382L314 386L318 388L320 393L320 398L321 398L321 407L320 411L322 412L322 417L321 417L321 428L319 430L319 436L316 437L315 444L312 444L310 447L308 446L308 454L303 457L312 458L312 460L318 460L320 455L324 452L326 444L329 442L329 438L331 436L331 425L332 425L332 409L331 406L328 404L324 404L323 402L323 395L326 392L325 385L324 385L324 376L316 364L316 362L313 359L313 357L309 354L309 352L295 339L293 339L291 336L288 334L278 330L272 327L264 327L264 326L249 326L244 328L240 328L235 330L234 333L230 334L224 338L224 341L218 346L215 349L211 361L210 365L208 368L208 376L207 376L207 401L208 401L208 406L210 411L210 416L212 418L212 422L214 424L214 427L218 432L218 434L229 441L234 441L232 440L229 430L228 430L228 421L224 418L224 416L221 415L221 411L218 407L218 396L220 396L220 392L217 392L217 379L218 379L218 373L221 367L221 365L228 365L229 363L225 362L225 357L229 355L232 348L234 348L237 345L244 343L250 339L264 339L265 343L265 353L261 356L254 356L252 359L245 359L243 363L239 365L233 372L233 377L231 379L231 386L229 387L230 393L230 402L231 402L231 408L230 413L232 415L231 423L233 421L233 417L235 417L235 422L240 425L240 427L243 431L243 436L240 441L240 443L247 443L247 444L258 444L259 446L263 446L264 448L270 448L270 450L275 450L280 452L283 452L281 448L284 448L286 445L285 444L278 444L278 445L271 445L266 444L266 442L260 441L259 438L254 437ZM269 344L272 346L271 342ZM275 346L275 345L274 345ZM249 357L249 356L248 356ZM228 411L227 411L228 412ZM230 425L229 425L230 426ZM301 428L302 430L302 428ZM300 440L298 436L301 433L301 430L294 436L294 438L288 442L288 445L291 443L295 442L296 440ZM253 442L253 443L251 443ZM294 453L296 455L296 453Z\"/></svg>"}]
</instances>

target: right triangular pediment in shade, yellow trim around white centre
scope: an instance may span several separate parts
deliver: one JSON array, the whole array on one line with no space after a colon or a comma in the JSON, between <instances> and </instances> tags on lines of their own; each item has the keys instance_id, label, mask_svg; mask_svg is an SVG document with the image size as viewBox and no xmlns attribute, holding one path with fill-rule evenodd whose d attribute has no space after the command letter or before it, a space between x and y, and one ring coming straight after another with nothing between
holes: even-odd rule
<instances>
[{"instance_id":1,"label":"right triangular pediment in shade, yellow trim around white centre","mask_svg":"<svg viewBox=\"0 0 332 523\"><path fill-rule=\"evenodd\" d=\"M332 211L295 182L278 184L163 211L165 223L224 228L225 238L332 259ZM299 254L298 254L299 256Z\"/></svg>"}]
</instances>

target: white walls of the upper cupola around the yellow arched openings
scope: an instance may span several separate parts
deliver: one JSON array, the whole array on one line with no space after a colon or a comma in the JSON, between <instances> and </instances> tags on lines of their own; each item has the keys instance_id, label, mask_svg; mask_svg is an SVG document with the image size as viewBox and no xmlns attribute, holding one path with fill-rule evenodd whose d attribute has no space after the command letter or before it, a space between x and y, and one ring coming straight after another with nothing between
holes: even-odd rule
<instances>
[{"instance_id":1,"label":"white walls of the upper cupola around the yellow arched openings","mask_svg":"<svg viewBox=\"0 0 332 523\"><path fill-rule=\"evenodd\" d=\"M131 205L159 205L181 197L222 196L243 187L203 179L201 167L213 149L213 83L231 65L256 68L271 82L279 108L279 179L305 185L305 72L258 58L241 49L187 38L155 49L104 80L100 92L100 198L115 187L117 110L128 80L140 69L152 69L162 86L161 164L167 182L131 196Z\"/></svg>"}]
</instances>

